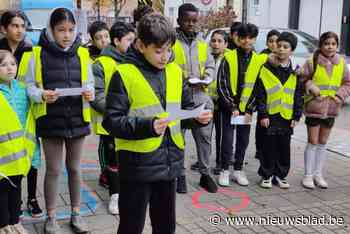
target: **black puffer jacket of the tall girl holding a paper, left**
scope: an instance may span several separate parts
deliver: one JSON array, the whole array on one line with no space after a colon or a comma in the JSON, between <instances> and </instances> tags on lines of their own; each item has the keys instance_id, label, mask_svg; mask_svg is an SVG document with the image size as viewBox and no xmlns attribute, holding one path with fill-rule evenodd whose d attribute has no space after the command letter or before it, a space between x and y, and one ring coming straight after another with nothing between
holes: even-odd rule
<instances>
[{"instance_id":1,"label":"black puffer jacket of the tall girl holding a paper, left","mask_svg":"<svg viewBox=\"0 0 350 234\"><path fill-rule=\"evenodd\" d=\"M77 54L81 44L79 37L64 51L42 32L39 45L42 47L42 75L44 89L81 87L81 66ZM90 134L89 124L84 122L81 96L59 97L47 104L47 115L37 119L37 134L40 137L75 138Z\"/></svg>"}]
</instances>

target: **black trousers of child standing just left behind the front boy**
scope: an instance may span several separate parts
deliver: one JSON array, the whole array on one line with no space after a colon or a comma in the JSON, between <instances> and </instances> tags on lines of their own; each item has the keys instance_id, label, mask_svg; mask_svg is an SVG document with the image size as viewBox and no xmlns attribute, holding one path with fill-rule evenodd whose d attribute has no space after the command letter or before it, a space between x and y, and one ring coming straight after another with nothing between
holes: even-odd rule
<instances>
[{"instance_id":1,"label":"black trousers of child standing just left behind the front boy","mask_svg":"<svg viewBox=\"0 0 350 234\"><path fill-rule=\"evenodd\" d=\"M107 135L100 136L98 154L101 171L107 176L109 195L119 193L119 162L117 154L115 152L115 143L113 137Z\"/></svg>"}]
</instances>

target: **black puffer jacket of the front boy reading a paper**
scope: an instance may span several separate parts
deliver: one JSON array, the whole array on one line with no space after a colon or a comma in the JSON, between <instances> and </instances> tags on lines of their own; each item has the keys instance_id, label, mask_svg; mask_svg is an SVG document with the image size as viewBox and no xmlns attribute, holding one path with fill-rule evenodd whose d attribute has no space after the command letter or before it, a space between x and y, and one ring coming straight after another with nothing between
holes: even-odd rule
<instances>
[{"instance_id":1,"label":"black puffer jacket of the front boy reading a paper","mask_svg":"<svg viewBox=\"0 0 350 234\"><path fill-rule=\"evenodd\" d=\"M151 85L165 108L165 72L148 63L142 54L131 49L125 63L136 65ZM184 84L182 108L192 109L194 103L190 89ZM114 74L106 100L106 114L103 127L114 137L136 140L158 136L153 129L154 119L128 117L130 102L120 74ZM182 128L199 127L194 120L181 122ZM118 150L121 180L153 182L172 180L180 175L184 152L171 140L167 130L161 146L152 153L135 153Z\"/></svg>"}]
</instances>

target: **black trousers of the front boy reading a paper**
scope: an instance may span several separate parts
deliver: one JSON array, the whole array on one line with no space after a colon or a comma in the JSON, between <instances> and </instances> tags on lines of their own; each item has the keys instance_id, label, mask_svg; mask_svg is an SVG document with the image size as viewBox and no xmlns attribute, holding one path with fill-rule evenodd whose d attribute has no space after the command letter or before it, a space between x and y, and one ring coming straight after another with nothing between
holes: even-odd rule
<instances>
[{"instance_id":1,"label":"black trousers of the front boy reading a paper","mask_svg":"<svg viewBox=\"0 0 350 234\"><path fill-rule=\"evenodd\" d=\"M153 234L175 233L175 180L152 183L120 183L118 234L141 234L146 210Z\"/></svg>"}]
</instances>

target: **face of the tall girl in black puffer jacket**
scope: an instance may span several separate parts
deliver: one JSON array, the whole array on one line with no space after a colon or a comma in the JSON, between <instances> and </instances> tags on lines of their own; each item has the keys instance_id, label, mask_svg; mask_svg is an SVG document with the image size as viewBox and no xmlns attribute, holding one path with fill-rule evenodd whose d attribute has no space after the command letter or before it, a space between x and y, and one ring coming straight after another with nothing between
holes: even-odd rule
<instances>
[{"instance_id":1,"label":"face of the tall girl in black puffer jacket","mask_svg":"<svg viewBox=\"0 0 350 234\"><path fill-rule=\"evenodd\" d=\"M52 34L60 47L67 48L75 39L75 24L68 20L62 21L53 28Z\"/></svg>"}]
</instances>

